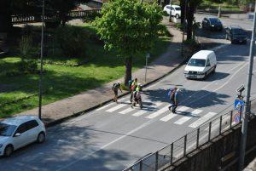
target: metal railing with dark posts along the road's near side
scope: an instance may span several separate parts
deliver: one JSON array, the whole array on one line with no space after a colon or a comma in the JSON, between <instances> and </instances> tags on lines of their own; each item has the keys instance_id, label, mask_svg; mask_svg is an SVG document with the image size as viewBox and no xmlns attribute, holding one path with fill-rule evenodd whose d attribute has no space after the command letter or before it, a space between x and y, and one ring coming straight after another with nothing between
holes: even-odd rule
<instances>
[{"instance_id":1,"label":"metal railing with dark posts along the road's near side","mask_svg":"<svg viewBox=\"0 0 256 171\"><path fill-rule=\"evenodd\" d=\"M172 142L172 144L144 157L123 171L157 171L164 166L172 166L174 162L186 157L190 152L195 151L201 145L205 145L239 123L241 123L241 113L239 111L229 111L210 120L209 123L202 124L182 138Z\"/></svg>"}]
</instances>

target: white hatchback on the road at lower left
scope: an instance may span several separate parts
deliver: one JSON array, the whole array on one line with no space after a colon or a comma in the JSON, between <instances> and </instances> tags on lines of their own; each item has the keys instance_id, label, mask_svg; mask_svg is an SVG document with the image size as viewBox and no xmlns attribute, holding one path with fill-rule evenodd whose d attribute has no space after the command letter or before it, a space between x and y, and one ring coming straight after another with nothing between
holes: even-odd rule
<instances>
[{"instance_id":1,"label":"white hatchback on the road at lower left","mask_svg":"<svg viewBox=\"0 0 256 171\"><path fill-rule=\"evenodd\" d=\"M45 140L44 123L38 117L9 117L0 122L0 156L9 157L22 146Z\"/></svg>"}]
</instances>

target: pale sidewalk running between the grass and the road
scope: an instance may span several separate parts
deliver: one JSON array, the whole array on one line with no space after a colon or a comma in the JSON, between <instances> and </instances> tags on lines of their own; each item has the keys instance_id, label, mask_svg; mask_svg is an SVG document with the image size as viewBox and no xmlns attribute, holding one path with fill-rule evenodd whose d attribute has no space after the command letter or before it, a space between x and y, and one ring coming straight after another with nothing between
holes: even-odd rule
<instances>
[{"instance_id":1,"label":"pale sidewalk running between the grass and the road","mask_svg":"<svg viewBox=\"0 0 256 171\"><path fill-rule=\"evenodd\" d=\"M150 83L159 77L163 77L166 73L172 71L183 62L183 59L180 58L182 32L172 27L167 18L163 20L163 23L173 35L172 43L170 44L166 54L162 54L158 59L149 64L147 71L147 83ZM139 83L145 84L145 68L132 73L132 77L137 77ZM123 81L124 78L120 78L119 80ZM63 118L78 115L83 111L88 111L88 109L96 105L101 105L106 101L112 100L113 92L111 88L113 83L115 82L107 83L100 88L91 89L64 100L55 101L49 105L44 105L42 107L42 118L44 122L47 124L56 123ZM30 111L24 111L17 115L24 114L38 115L38 108Z\"/></svg>"}]
</instances>

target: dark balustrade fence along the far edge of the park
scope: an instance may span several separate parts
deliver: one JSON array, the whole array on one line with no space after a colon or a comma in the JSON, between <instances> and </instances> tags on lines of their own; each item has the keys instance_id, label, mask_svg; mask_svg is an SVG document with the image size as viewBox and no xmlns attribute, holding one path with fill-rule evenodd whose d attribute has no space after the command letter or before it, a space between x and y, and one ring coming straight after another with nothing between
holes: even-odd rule
<instances>
[{"instance_id":1,"label":"dark balustrade fence along the far edge of the park","mask_svg":"<svg viewBox=\"0 0 256 171\"><path fill-rule=\"evenodd\" d=\"M100 13L101 9L90 9L83 11L70 11L67 14L68 20L71 19L81 19L85 16L89 16L90 14ZM46 14L44 20L55 20L58 19L58 14ZM15 14L12 15L12 23L20 24L27 22L41 22L42 16L41 14Z\"/></svg>"}]
</instances>

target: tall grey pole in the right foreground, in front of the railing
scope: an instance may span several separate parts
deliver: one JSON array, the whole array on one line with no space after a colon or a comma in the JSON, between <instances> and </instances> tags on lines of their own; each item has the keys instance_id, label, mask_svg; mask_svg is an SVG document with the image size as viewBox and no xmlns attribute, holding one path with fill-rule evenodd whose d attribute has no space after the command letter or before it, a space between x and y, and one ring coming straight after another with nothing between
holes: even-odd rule
<instances>
[{"instance_id":1,"label":"tall grey pole in the right foreground, in front of the railing","mask_svg":"<svg viewBox=\"0 0 256 171\"><path fill-rule=\"evenodd\" d=\"M250 59L249 59L249 67L247 71L247 98L245 104L245 112L242 114L242 125L241 125L241 145L240 145L240 157L239 157L239 171L243 170L244 167L244 158L245 151L247 145L247 123L248 123L248 115L251 113L250 108L250 94L251 94L251 84L252 84L252 75L253 75L253 57L254 57L254 43L255 43L255 25L256 25L256 3L254 8L253 15L253 32L251 37L251 46L250 46Z\"/></svg>"}]
</instances>

